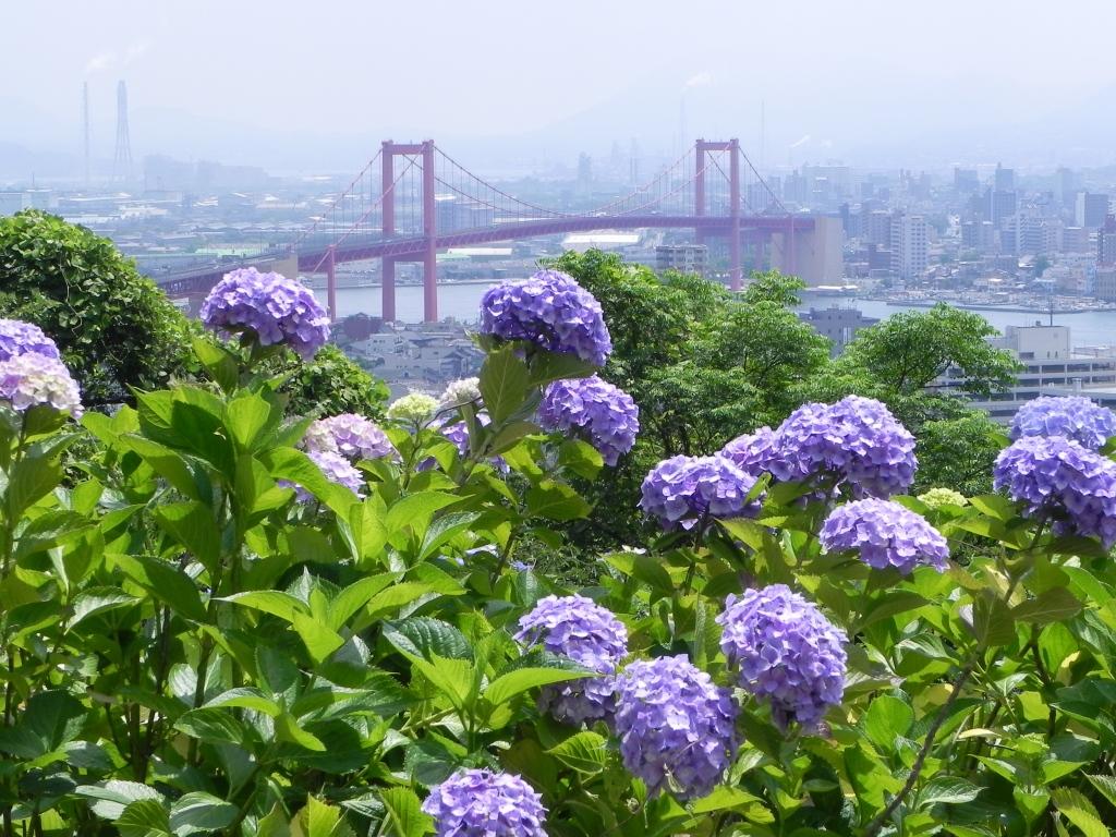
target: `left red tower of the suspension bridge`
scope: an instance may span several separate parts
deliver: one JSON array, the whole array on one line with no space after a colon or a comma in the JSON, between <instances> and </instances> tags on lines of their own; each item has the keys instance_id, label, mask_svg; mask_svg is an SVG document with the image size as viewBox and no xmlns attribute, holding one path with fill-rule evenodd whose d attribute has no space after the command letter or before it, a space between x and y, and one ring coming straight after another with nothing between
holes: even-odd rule
<instances>
[{"instance_id":1,"label":"left red tower of the suspension bridge","mask_svg":"<svg viewBox=\"0 0 1116 837\"><path fill-rule=\"evenodd\" d=\"M434 141L422 143L395 143L385 140L381 157L381 206L383 213L384 239L396 234L395 229L395 157L422 157L422 256L423 263L423 321L437 321L437 203L435 200ZM395 320L395 264L404 257L384 256L381 259L383 277L381 311L384 320Z\"/></svg>"}]
</instances>

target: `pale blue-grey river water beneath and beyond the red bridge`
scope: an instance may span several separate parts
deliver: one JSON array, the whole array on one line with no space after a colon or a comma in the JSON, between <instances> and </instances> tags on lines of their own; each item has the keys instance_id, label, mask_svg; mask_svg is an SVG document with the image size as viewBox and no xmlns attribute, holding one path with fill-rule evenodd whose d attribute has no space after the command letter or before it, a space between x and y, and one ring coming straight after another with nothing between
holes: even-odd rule
<instances>
[{"instance_id":1,"label":"pale blue-grey river water beneath and beyond the red bridge","mask_svg":"<svg viewBox=\"0 0 1116 837\"><path fill-rule=\"evenodd\" d=\"M489 283L446 283L439 286L439 312L443 317L454 317L462 323L473 323L477 319L477 308L481 296ZM319 291L321 296L321 291ZM341 317L353 314L379 314L379 288L338 288L337 309ZM839 305L845 308L858 308L866 317L883 319L902 310L926 310L925 308L904 308L875 299L840 299L831 296L805 295L804 308L828 308ZM395 308L405 323L417 323L422 319L422 286L406 285L396 288ZM1049 315L1043 311L1004 311L994 308L982 308L975 311L993 327L1003 330L1006 326L1031 326L1035 323L1047 324ZM1116 344L1116 311L1077 311L1072 314L1056 314L1055 325L1069 326L1076 346Z\"/></svg>"}]
</instances>

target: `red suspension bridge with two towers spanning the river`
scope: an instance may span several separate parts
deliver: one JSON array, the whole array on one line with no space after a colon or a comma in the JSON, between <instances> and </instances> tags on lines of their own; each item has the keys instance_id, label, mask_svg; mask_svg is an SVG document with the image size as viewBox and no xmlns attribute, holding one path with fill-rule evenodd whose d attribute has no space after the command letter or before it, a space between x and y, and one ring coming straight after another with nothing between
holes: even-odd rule
<instances>
[{"instance_id":1,"label":"red suspension bridge with two towers spanning the river","mask_svg":"<svg viewBox=\"0 0 1116 837\"><path fill-rule=\"evenodd\" d=\"M789 213L737 140L699 140L650 183L591 211L538 206L477 176L434 141L386 141L352 183L288 244L235 264L160 277L170 294L203 296L234 267L325 273L330 317L337 314L336 269L382 260L382 316L395 319L395 266L423 264L423 315L437 319L437 251L539 235L618 229L692 229L695 239L728 240L730 283L741 285L741 248L777 237L785 269L795 271L796 235L815 219ZM296 268L297 260L297 268Z\"/></svg>"}]
</instances>

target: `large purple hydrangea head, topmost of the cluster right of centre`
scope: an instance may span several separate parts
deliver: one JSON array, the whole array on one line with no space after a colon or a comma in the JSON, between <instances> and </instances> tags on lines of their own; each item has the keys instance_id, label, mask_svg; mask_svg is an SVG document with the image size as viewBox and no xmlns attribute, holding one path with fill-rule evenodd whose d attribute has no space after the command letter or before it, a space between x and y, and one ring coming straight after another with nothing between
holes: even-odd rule
<instances>
[{"instance_id":1,"label":"large purple hydrangea head, topmost of the cluster right of centre","mask_svg":"<svg viewBox=\"0 0 1116 837\"><path fill-rule=\"evenodd\" d=\"M854 497L891 497L914 482L914 436L874 398L849 395L836 404L804 404L776 431L777 480L829 477Z\"/></svg>"}]
</instances>

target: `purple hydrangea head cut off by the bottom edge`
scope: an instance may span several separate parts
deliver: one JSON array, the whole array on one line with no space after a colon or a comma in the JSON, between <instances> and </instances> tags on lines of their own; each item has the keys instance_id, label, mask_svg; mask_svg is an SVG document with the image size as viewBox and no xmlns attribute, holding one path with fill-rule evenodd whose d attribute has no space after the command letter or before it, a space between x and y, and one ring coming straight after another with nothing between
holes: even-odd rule
<instances>
[{"instance_id":1,"label":"purple hydrangea head cut off by the bottom edge","mask_svg":"<svg viewBox=\"0 0 1116 837\"><path fill-rule=\"evenodd\" d=\"M547 837L542 797L512 773L459 770L431 789L422 809L437 837Z\"/></svg>"}]
</instances>

